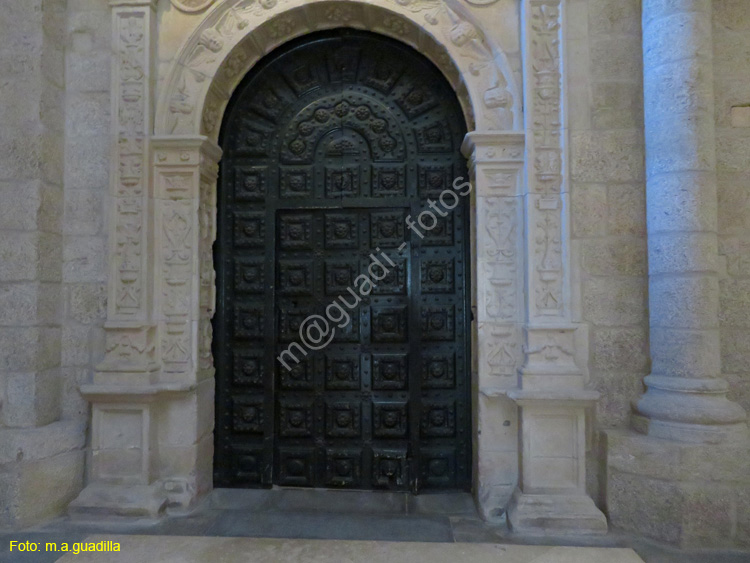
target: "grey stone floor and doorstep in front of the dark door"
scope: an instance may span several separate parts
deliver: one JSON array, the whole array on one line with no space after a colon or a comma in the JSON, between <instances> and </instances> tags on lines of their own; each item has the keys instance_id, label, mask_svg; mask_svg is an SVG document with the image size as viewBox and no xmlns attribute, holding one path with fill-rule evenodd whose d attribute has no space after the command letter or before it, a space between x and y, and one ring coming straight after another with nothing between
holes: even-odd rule
<instances>
[{"instance_id":1,"label":"grey stone floor and doorstep in front of the dark door","mask_svg":"<svg viewBox=\"0 0 750 563\"><path fill-rule=\"evenodd\" d=\"M604 537L534 538L511 533L503 521L488 524L479 518L468 494L420 495L400 493L367 493L312 490L228 490L211 493L192 513L171 516L159 522L71 521L60 518L42 526L14 534L0 534L0 563L53 562L61 554L36 552L10 553L9 543L16 541L81 542L93 534L161 536L153 541L165 545L176 541L189 545L196 537L276 538L302 540L356 540L376 542L443 542L486 543L502 546L579 546L598 548L632 548L646 563L748 563L750 553L683 552L617 531ZM165 536L171 536L167 538ZM187 536L174 538L174 536ZM130 549L146 546L146 539L132 537ZM140 542L140 543L139 543ZM166 542L166 543L165 543ZM316 542L308 542L320 546ZM210 542L209 542L210 544ZM287 549L288 542L277 545ZM234 545L234 544L232 544ZM408 549L405 544L394 549ZM143 549L146 549L143 547ZM439 550L439 548L438 548ZM377 550L376 550L377 551ZM124 553L124 552L123 552ZM131 555L134 552L131 552ZM141 553L145 553L141 551ZM529 556L533 551L527 552ZM545 551L549 555L549 551ZM593 552L592 552L593 553ZM613 552L609 552L610 554ZM508 554L510 556L510 554ZM544 555L544 554L542 554ZM540 557L542 557L540 555ZM322 552L320 553L322 557ZM524 555L525 557L526 555ZM95 559L65 561L110 561L101 555ZM477 556L478 557L478 556ZM507 559L508 562L558 561L557 559ZM113 559L112 561L201 561L200 559ZM461 560L461 559L458 559ZM582 559L580 559L583 561ZM227 561L235 561L227 559ZM477 562L481 561L476 559ZM503 559L496 559L502 563ZM562 559L560 561L563 561ZM579 559L574 559L579 561ZM594 560L592 560L594 561ZM614 561L606 557L602 561ZM635 559L637 561L637 559ZM218 563L218 560L213 562ZM371 563L371 561L370 561Z\"/></svg>"}]
</instances>

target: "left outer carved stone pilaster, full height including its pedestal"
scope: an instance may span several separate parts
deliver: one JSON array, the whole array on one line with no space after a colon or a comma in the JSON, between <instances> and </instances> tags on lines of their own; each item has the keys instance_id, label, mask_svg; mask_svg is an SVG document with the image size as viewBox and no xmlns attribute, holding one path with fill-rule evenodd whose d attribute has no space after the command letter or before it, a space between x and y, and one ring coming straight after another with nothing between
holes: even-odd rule
<instances>
[{"instance_id":1,"label":"left outer carved stone pilaster, full height including its pedestal","mask_svg":"<svg viewBox=\"0 0 750 563\"><path fill-rule=\"evenodd\" d=\"M104 361L81 394L92 403L89 484L68 507L73 516L101 512L156 516L167 504L155 485L154 400L160 349L152 318L155 0L114 0L110 272ZM158 391L181 391L161 389Z\"/></svg>"}]
</instances>

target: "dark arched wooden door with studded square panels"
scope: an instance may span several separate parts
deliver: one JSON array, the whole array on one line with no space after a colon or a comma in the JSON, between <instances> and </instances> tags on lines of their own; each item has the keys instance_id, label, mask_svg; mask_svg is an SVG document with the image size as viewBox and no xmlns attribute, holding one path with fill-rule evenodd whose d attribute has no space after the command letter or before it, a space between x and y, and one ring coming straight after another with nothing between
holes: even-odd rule
<instances>
[{"instance_id":1,"label":"dark arched wooden door with studded square panels","mask_svg":"<svg viewBox=\"0 0 750 563\"><path fill-rule=\"evenodd\" d=\"M464 134L435 67L374 34L310 36L238 88L215 249L217 486L470 487L468 197L407 226L467 177ZM363 274L385 277L367 291ZM335 329L327 346L301 339L311 315Z\"/></svg>"}]
</instances>

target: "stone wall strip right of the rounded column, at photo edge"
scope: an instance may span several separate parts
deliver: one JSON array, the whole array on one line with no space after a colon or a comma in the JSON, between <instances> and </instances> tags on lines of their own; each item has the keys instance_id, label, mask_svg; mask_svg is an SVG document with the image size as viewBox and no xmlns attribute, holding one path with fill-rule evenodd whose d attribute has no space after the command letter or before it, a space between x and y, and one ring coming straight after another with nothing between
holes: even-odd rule
<instances>
[{"instance_id":1,"label":"stone wall strip right of the rounded column, at photo edge","mask_svg":"<svg viewBox=\"0 0 750 563\"><path fill-rule=\"evenodd\" d=\"M714 0L722 377L750 410L750 6Z\"/></svg>"}]
</instances>

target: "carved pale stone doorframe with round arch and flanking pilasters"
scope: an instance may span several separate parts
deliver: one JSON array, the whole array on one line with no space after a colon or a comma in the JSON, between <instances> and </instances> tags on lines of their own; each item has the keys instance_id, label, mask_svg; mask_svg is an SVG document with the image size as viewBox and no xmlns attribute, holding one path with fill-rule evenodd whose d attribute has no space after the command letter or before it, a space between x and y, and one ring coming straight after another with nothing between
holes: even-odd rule
<instances>
[{"instance_id":1,"label":"carved pale stone doorframe with round arch and flanking pilasters","mask_svg":"<svg viewBox=\"0 0 750 563\"><path fill-rule=\"evenodd\" d=\"M492 18L478 21L462 0L224 0L185 30L159 91L158 1L111 1L106 355L81 389L97 416L89 485L72 513L154 517L186 510L212 488L219 124L265 54L313 31L353 27L427 55L472 131L463 151L476 198L472 404L482 512L504 509L516 491L515 528L575 521L578 531L606 530L584 487L585 412L597 395L585 389L588 335L571 310L566 1L520 1L523 88L483 30ZM564 430L554 440L544 431L551 420ZM132 502L118 507L123 494ZM571 503L586 506L582 516Z\"/></svg>"}]
</instances>

